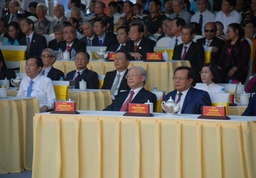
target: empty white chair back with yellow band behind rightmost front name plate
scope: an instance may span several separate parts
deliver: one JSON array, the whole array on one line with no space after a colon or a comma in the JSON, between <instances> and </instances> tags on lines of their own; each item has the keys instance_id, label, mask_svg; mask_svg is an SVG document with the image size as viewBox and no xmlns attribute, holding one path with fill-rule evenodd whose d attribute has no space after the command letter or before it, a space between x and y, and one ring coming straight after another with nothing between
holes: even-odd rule
<instances>
[{"instance_id":1,"label":"empty white chair back with yellow band behind rightmost front name plate","mask_svg":"<svg viewBox=\"0 0 256 178\"><path fill-rule=\"evenodd\" d=\"M209 93L212 106L224 105L226 106L226 114L228 115L228 103L229 103L229 93Z\"/></svg>"}]
</instances>

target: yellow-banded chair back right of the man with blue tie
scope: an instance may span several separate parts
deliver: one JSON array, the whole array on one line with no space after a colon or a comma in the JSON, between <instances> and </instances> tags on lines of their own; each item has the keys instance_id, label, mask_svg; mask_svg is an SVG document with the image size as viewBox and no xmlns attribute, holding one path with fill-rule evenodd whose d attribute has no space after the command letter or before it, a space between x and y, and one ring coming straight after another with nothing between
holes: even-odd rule
<instances>
[{"instance_id":1,"label":"yellow-banded chair back right of the man with blue tie","mask_svg":"<svg viewBox=\"0 0 256 178\"><path fill-rule=\"evenodd\" d=\"M69 81L52 81L56 100L67 101Z\"/></svg>"}]
</instances>

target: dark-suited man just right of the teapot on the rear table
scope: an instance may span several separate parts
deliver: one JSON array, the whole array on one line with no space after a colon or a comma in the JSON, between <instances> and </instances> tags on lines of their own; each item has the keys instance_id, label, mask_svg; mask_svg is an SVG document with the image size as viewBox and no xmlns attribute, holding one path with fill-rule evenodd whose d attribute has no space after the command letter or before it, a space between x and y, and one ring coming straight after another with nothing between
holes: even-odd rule
<instances>
[{"instance_id":1,"label":"dark-suited man just right of the teapot on the rear table","mask_svg":"<svg viewBox=\"0 0 256 178\"><path fill-rule=\"evenodd\" d=\"M129 40L129 28L121 26L117 29L117 43L114 43L110 46L109 51L117 52L121 50L126 45L126 42Z\"/></svg>"}]
</instances>

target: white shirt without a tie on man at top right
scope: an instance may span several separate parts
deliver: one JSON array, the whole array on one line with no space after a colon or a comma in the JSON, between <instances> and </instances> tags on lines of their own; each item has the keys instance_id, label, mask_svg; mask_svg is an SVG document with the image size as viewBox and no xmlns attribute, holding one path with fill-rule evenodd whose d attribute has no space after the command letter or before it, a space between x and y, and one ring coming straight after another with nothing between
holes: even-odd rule
<instances>
[{"instance_id":1,"label":"white shirt without a tie on man at top right","mask_svg":"<svg viewBox=\"0 0 256 178\"><path fill-rule=\"evenodd\" d=\"M228 25L230 23L241 23L242 16L236 11L232 10L229 16L227 17L223 11L219 11L216 15L215 21L220 21L223 23L224 26L224 33L226 33Z\"/></svg>"}]
</instances>

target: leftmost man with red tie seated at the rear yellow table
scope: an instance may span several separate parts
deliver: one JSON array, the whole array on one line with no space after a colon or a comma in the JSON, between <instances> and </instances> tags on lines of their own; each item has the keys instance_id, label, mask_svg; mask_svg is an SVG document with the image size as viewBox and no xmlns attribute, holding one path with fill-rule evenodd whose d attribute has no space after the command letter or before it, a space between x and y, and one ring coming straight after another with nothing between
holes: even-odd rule
<instances>
[{"instance_id":1,"label":"leftmost man with red tie seated at the rear yellow table","mask_svg":"<svg viewBox=\"0 0 256 178\"><path fill-rule=\"evenodd\" d=\"M60 42L59 48L61 50L69 52L71 58L71 50L74 48L75 51L86 51L86 44L83 41L76 39L76 28L73 26L66 26L63 29L64 41Z\"/></svg>"}]
</instances>

